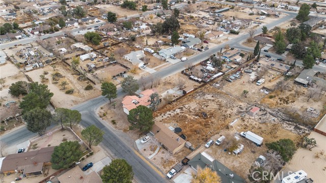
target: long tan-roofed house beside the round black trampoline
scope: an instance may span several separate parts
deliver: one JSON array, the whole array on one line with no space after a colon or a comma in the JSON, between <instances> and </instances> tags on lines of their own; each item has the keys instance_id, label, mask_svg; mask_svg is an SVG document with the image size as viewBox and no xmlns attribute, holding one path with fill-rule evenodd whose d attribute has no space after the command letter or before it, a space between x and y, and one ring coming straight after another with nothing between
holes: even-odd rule
<instances>
[{"instance_id":1,"label":"long tan-roofed house beside the round black trampoline","mask_svg":"<svg viewBox=\"0 0 326 183\"><path fill-rule=\"evenodd\" d=\"M151 134L172 154L177 153L184 147L185 140L162 123L156 122L152 127Z\"/></svg>"}]
</instances>

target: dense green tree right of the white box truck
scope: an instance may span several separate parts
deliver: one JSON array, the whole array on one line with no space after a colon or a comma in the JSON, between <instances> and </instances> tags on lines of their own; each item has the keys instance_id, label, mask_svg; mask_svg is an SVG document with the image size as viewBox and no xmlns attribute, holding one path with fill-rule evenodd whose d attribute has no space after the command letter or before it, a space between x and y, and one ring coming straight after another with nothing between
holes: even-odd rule
<instances>
[{"instance_id":1,"label":"dense green tree right of the white box truck","mask_svg":"<svg viewBox=\"0 0 326 183\"><path fill-rule=\"evenodd\" d=\"M295 153L295 145L291 139L280 139L276 142L266 143L266 146L269 150L277 151L285 162L288 162Z\"/></svg>"}]
</instances>

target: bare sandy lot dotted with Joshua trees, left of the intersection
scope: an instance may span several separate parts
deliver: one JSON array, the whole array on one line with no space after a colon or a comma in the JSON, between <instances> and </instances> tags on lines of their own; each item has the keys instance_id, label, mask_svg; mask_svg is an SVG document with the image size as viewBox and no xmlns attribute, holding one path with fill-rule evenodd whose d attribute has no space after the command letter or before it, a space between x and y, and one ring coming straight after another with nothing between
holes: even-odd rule
<instances>
[{"instance_id":1,"label":"bare sandy lot dotted with Joshua trees, left of the intersection","mask_svg":"<svg viewBox=\"0 0 326 183\"><path fill-rule=\"evenodd\" d=\"M79 81L77 75L72 75L72 71L67 65L63 63L56 64L56 71L53 71L53 68L50 66L46 66L41 69L33 70L31 72L27 72L26 74L32 78L33 81L41 82L40 75L44 74L44 71L48 72L45 77L48 81L45 83L48 85L50 91L54 94L51 99L51 102L56 107L64 107L69 108L78 103L82 103L91 98L97 97L100 95L100 86L93 85L93 90L85 90L84 88L91 84L88 80ZM51 74L59 72L63 75L58 81L53 81ZM69 84L66 86L66 89L63 90L60 86L62 81L67 81ZM98 88L97 88L98 87ZM65 94L65 91L68 89L74 89L74 93L72 95Z\"/></svg>"}]
</instances>

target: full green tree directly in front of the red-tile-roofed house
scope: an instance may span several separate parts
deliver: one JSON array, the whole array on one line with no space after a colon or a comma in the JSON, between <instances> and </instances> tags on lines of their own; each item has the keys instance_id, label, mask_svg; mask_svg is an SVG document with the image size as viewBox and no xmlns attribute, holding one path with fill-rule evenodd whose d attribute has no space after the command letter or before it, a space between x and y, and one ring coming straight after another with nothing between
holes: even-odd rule
<instances>
[{"instance_id":1,"label":"full green tree directly in front of the red-tile-roofed house","mask_svg":"<svg viewBox=\"0 0 326 183\"><path fill-rule=\"evenodd\" d=\"M152 110L143 105L131 109L127 118L131 124L130 130L140 129L142 132L148 132L154 125Z\"/></svg>"}]
</instances>

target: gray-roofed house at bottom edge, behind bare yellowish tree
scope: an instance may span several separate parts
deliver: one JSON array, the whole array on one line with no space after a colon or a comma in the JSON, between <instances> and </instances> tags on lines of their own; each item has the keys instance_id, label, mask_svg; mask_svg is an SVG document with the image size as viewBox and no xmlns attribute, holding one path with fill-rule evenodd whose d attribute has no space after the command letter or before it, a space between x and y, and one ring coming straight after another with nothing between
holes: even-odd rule
<instances>
[{"instance_id":1,"label":"gray-roofed house at bottom edge, behind bare yellowish tree","mask_svg":"<svg viewBox=\"0 0 326 183\"><path fill-rule=\"evenodd\" d=\"M209 167L213 171L216 171L221 177L221 182L223 183L240 183L244 182L244 179L235 172L231 171L228 167L224 166L219 161L212 158L207 153L199 153L193 159L188 161L188 164L197 171L197 167L206 168Z\"/></svg>"}]
</instances>

